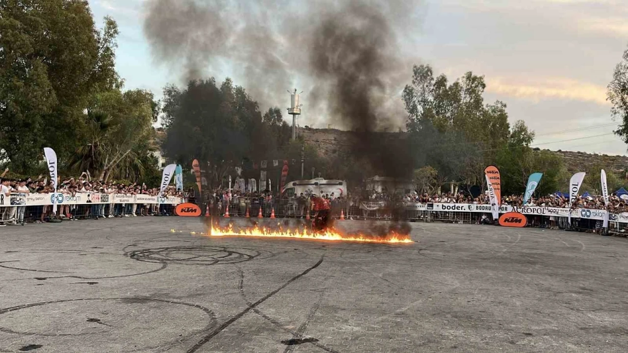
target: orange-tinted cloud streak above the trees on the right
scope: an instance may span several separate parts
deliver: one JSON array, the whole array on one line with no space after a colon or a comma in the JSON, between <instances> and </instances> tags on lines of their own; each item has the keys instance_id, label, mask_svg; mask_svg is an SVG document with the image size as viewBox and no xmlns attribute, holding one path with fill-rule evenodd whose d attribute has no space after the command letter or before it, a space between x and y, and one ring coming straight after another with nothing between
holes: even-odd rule
<instances>
[{"instance_id":1,"label":"orange-tinted cloud streak above the trees on the right","mask_svg":"<svg viewBox=\"0 0 628 353\"><path fill-rule=\"evenodd\" d=\"M505 77L487 77L485 80L487 92L494 94L504 94L534 102L546 99L566 99L594 102L601 106L609 105L606 100L606 87L588 82L567 78L520 81Z\"/></svg>"}]
</instances>

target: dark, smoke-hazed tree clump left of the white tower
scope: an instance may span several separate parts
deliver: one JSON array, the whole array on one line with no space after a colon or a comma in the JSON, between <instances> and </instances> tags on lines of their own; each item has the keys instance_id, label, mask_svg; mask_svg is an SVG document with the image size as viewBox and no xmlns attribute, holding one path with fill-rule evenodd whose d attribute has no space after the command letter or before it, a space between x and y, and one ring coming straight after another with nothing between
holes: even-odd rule
<instances>
[{"instance_id":1,"label":"dark, smoke-hazed tree clump left of the white tower","mask_svg":"<svg viewBox=\"0 0 628 353\"><path fill-rule=\"evenodd\" d=\"M163 112L166 155L186 165L193 159L202 161L214 186L234 166L286 156L290 128L281 110L261 114L257 102L230 79L220 87L214 79L190 81L185 89L168 85ZM300 149L295 153L300 160Z\"/></svg>"}]
</instances>

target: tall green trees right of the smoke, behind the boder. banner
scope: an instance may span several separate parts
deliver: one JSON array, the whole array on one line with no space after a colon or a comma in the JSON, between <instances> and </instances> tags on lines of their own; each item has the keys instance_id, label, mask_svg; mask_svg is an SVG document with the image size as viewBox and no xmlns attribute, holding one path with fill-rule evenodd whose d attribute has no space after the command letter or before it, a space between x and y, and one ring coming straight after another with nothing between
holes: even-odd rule
<instances>
[{"instance_id":1,"label":"tall green trees right of the smoke, behind the boder. banner","mask_svg":"<svg viewBox=\"0 0 628 353\"><path fill-rule=\"evenodd\" d=\"M517 175L505 189L518 189L534 133L522 121L511 127L504 102L485 104L485 87L484 77L472 72L450 84L445 75L434 77L429 65L414 66L402 95L414 160L435 168L441 184L484 185L485 166L502 165Z\"/></svg>"}]
</instances>

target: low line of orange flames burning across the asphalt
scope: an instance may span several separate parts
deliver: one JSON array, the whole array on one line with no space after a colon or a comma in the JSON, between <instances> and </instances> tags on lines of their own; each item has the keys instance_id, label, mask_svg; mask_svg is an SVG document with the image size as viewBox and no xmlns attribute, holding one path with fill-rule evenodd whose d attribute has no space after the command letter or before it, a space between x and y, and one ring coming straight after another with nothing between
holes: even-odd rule
<instances>
[{"instance_id":1,"label":"low line of orange flames burning across the asphalt","mask_svg":"<svg viewBox=\"0 0 628 353\"><path fill-rule=\"evenodd\" d=\"M369 236L366 234L342 234L337 229L328 229L325 232L312 232L308 229L270 229L267 227L247 227L241 229L234 229L233 224L229 224L227 227L219 228L212 226L209 234L202 234L204 236L211 237L224 237L224 236L244 236L244 237L273 237L273 238L294 238L294 239L315 239L315 240L327 240L327 241L355 241L355 242L379 242L379 243L411 243L414 242L410 239L408 234L398 234L391 232L384 237L381 236Z\"/></svg>"}]
</instances>

